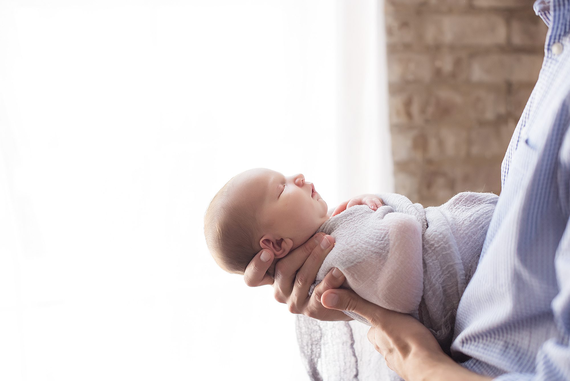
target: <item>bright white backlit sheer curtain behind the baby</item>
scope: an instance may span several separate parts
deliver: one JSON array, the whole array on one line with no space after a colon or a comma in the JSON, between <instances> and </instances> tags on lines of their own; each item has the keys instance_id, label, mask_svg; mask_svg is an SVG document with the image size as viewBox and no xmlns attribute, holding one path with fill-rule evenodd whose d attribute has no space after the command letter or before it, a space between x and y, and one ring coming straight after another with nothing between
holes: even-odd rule
<instances>
[{"instance_id":1,"label":"bright white backlit sheer curtain behind the baby","mask_svg":"<svg viewBox=\"0 0 570 381\"><path fill-rule=\"evenodd\" d=\"M0 379L306 378L203 213L253 167L392 191L381 9L0 2Z\"/></svg>"}]
</instances>

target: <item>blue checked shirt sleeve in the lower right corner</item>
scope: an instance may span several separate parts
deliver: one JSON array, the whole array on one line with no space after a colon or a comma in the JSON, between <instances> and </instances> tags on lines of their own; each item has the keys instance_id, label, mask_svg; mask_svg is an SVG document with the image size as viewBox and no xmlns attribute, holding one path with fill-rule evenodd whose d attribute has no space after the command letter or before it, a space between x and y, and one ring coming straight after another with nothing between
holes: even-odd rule
<instances>
[{"instance_id":1,"label":"blue checked shirt sleeve in the lower right corner","mask_svg":"<svg viewBox=\"0 0 570 381\"><path fill-rule=\"evenodd\" d=\"M555 337L545 341L535 360L534 374L507 373L496 381L510 380L568 380L570 379L570 221L568 221L555 256L556 281L559 293L552 300L556 323Z\"/></svg>"}]
</instances>

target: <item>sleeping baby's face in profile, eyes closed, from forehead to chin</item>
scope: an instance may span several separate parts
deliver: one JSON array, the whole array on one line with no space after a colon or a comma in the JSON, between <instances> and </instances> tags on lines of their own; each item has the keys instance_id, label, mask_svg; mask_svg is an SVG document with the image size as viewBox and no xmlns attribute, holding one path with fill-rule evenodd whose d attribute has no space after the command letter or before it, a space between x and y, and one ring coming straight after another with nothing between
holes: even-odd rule
<instances>
[{"instance_id":1,"label":"sleeping baby's face in profile, eyes closed, from forehead to chin","mask_svg":"<svg viewBox=\"0 0 570 381\"><path fill-rule=\"evenodd\" d=\"M328 220L327 203L300 173L284 176L255 168L239 176L245 190L239 197L250 197L249 201L259 206L258 219L266 230L263 234L275 241L289 238L296 248Z\"/></svg>"}]
</instances>

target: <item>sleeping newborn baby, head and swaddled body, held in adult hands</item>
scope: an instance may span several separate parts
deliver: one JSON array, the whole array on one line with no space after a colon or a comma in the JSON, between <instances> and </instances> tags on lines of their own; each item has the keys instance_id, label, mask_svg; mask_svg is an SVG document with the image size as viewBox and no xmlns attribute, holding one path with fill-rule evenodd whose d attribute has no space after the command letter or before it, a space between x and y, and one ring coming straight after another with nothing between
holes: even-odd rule
<instances>
[{"instance_id":1,"label":"sleeping newborn baby, head and swaddled body, held in adult hands","mask_svg":"<svg viewBox=\"0 0 570 381\"><path fill-rule=\"evenodd\" d=\"M250 169L233 177L211 201L204 218L206 243L223 270L243 274L261 249L274 253L272 271L315 233L329 234L336 244L311 292L337 267L346 277L343 287L411 314L442 348L449 348L455 311L477 267L498 196L464 192L429 208L400 194L378 196L385 205L377 210L352 206L331 217L303 175Z\"/></svg>"}]
</instances>

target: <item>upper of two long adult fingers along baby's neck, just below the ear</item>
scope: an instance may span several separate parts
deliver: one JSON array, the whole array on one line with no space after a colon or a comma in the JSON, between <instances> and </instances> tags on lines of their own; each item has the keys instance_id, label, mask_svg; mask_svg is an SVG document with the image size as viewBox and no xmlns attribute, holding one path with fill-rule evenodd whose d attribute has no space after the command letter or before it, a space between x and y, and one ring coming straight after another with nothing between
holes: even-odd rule
<instances>
[{"instance_id":1,"label":"upper of two long adult fingers along baby's neck, just below the ear","mask_svg":"<svg viewBox=\"0 0 570 381\"><path fill-rule=\"evenodd\" d=\"M297 271L307 261L313 250L319 247L320 241L324 236L323 232L315 234L299 248L296 248L277 262L275 265L275 282L273 284L275 294L280 295L280 299L288 300L290 298Z\"/></svg>"}]
</instances>

